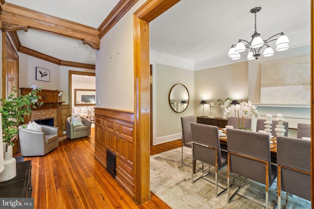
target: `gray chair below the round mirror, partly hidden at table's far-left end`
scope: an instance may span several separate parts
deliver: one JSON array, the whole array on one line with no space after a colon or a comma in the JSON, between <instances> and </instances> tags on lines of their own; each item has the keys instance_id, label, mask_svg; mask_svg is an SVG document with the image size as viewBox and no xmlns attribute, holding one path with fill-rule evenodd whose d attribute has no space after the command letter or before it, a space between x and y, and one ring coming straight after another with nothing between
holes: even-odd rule
<instances>
[{"instance_id":1,"label":"gray chair below the round mirror, partly hidden at table's far-left end","mask_svg":"<svg viewBox=\"0 0 314 209\"><path fill-rule=\"evenodd\" d=\"M191 134L191 123L195 122L194 116L185 116L181 117L181 126L182 126L182 148L181 148L181 163L191 166L183 162L183 146L192 147L192 134Z\"/></svg>"}]
</instances>

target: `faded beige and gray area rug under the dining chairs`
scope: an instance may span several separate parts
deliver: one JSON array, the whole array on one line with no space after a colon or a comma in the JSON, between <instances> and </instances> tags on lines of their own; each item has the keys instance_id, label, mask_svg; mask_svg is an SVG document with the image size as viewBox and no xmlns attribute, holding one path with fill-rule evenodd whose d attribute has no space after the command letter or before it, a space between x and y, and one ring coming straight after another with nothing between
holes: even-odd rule
<instances>
[{"instance_id":1,"label":"faded beige and gray area rug under the dining chairs","mask_svg":"<svg viewBox=\"0 0 314 209\"><path fill-rule=\"evenodd\" d=\"M186 163L191 162L191 149L188 147L184 147L183 161ZM215 186L203 178L192 184L192 168L181 163L181 147L151 156L150 163L151 191L173 209L262 208L238 195L228 203L227 192L215 197ZM208 168L208 166L205 166L205 168ZM210 171L209 177L206 178L214 182L213 166L211 166ZM200 171L196 173L196 175L201 174ZM227 186L227 166L218 172L218 185ZM265 204L265 186L245 178L242 178L242 185L239 194L262 205ZM231 187L231 193L235 192L238 186L239 177L235 176L235 186ZM275 182L268 191L269 208L273 208L276 203L276 186ZM218 188L219 191L222 191L221 188ZM282 192L281 208L285 208L285 198L286 193ZM289 196L289 208L310 209L311 202L292 195Z\"/></svg>"}]
</instances>

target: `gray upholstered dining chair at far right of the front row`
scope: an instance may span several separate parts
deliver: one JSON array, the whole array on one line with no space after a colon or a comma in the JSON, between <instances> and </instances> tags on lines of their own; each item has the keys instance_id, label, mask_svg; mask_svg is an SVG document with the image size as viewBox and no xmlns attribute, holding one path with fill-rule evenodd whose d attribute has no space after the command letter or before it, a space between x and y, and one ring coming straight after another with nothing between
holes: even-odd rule
<instances>
[{"instance_id":1,"label":"gray upholstered dining chair at far right of the front row","mask_svg":"<svg viewBox=\"0 0 314 209\"><path fill-rule=\"evenodd\" d=\"M277 137L278 208L281 191L311 201L311 140Z\"/></svg>"}]
</instances>

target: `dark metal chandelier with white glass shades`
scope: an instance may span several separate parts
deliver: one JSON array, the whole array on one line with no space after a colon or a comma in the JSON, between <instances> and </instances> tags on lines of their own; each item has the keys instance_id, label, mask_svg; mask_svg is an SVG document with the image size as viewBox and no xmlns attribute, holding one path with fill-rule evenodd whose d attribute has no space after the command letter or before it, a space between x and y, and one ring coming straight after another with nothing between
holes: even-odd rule
<instances>
[{"instance_id":1,"label":"dark metal chandelier with white glass shades","mask_svg":"<svg viewBox=\"0 0 314 209\"><path fill-rule=\"evenodd\" d=\"M232 60L240 59L239 52L245 51L248 48L249 53L247 55L248 60L258 59L261 55L262 48L265 47L263 51L264 57L269 57L274 54L274 50L268 45L268 43L272 41L276 41L276 50L277 51L284 51L289 48L289 39L283 33L278 33L276 35L271 36L267 40L262 40L261 34L259 34L256 30L256 13L261 11L262 7L255 7L250 10L251 13L255 15L255 30L250 42L240 39L236 45L232 45L229 49L228 56L231 57Z\"/></svg>"}]
</instances>

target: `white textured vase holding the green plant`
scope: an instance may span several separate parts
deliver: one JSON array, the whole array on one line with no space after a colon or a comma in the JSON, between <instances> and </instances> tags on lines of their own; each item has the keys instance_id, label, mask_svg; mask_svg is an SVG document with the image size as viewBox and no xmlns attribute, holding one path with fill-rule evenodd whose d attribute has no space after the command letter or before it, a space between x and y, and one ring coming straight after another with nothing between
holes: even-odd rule
<instances>
[{"instance_id":1,"label":"white textured vase holding the green plant","mask_svg":"<svg viewBox=\"0 0 314 209\"><path fill-rule=\"evenodd\" d=\"M0 182L6 182L16 177L16 160L8 157L8 152L4 152L4 169L0 172Z\"/></svg>"}]
</instances>

